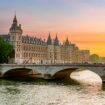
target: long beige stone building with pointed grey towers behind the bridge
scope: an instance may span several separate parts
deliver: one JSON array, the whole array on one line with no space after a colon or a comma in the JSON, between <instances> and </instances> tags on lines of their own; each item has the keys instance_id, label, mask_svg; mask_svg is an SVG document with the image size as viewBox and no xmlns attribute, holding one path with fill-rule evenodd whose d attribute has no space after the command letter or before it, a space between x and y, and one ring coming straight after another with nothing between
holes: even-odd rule
<instances>
[{"instance_id":1,"label":"long beige stone building with pointed grey towers behind the bridge","mask_svg":"<svg viewBox=\"0 0 105 105\"><path fill-rule=\"evenodd\" d=\"M8 35L1 35L9 41L15 51L14 59L10 63L35 63L35 64L55 64L55 63L85 63L89 62L89 50L79 50L79 48L69 42L68 38L60 44L56 35L51 38L49 33L47 41L22 35L21 24L18 25L16 15L9 29Z\"/></svg>"}]
</instances>

